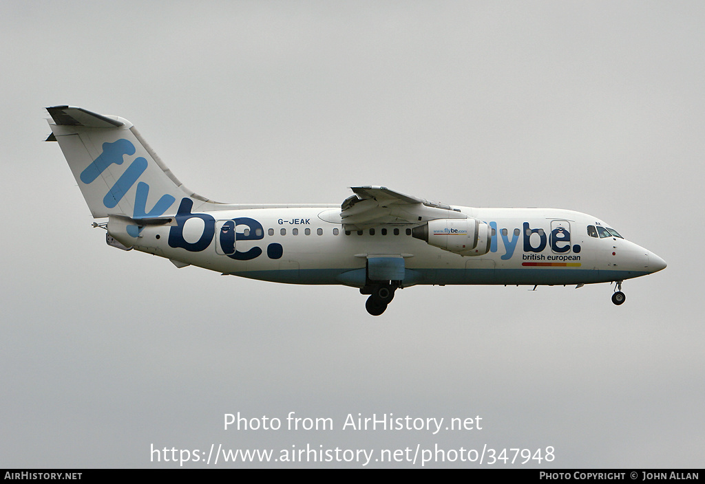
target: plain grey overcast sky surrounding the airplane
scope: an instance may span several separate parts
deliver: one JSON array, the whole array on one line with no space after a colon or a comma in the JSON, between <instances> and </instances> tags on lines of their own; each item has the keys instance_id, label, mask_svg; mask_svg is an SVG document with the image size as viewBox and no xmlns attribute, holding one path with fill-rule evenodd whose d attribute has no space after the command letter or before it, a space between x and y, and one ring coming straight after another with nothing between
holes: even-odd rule
<instances>
[{"instance_id":1,"label":"plain grey overcast sky surrounding the airplane","mask_svg":"<svg viewBox=\"0 0 705 484\"><path fill-rule=\"evenodd\" d=\"M212 444L702 467L704 26L701 1L1 1L0 467L173 467L152 446ZM668 268L620 307L608 284L416 286L378 318L353 288L176 269L91 228L42 143L58 104L127 118L215 200L376 184L570 208ZM237 412L335 427L223 430ZM348 414L482 430L343 431Z\"/></svg>"}]
</instances>

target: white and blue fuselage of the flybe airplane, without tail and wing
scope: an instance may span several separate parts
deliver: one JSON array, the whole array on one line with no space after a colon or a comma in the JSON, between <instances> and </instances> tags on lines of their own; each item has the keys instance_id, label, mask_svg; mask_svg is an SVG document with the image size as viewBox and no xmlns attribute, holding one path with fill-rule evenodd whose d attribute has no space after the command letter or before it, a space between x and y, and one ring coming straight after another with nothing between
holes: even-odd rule
<instances>
[{"instance_id":1,"label":"white and blue fuselage of the flybe airplane, without tail and wing","mask_svg":"<svg viewBox=\"0 0 705 484\"><path fill-rule=\"evenodd\" d=\"M170 227L142 228L133 248L250 279L357 287L364 277L345 274L364 269L368 257L401 257L407 272L402 286L591 284L643 276L664 265L623 238L589 236L589 225L607 226L584 213L454 208L491 227L488 253L448 252L414 238L404 225L345 231L334 221L338 205L195 211Z\"/></svg>"}]
</instances>

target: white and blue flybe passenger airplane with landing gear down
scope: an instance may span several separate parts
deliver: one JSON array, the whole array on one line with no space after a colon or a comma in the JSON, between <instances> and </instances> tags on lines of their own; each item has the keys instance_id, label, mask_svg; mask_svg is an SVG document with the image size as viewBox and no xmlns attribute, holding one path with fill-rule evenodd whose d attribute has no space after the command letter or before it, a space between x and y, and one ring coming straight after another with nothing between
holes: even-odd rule
<instances>
[{"instance_id":1,"label":"white and blue flybe passenger airplane with landing gear down","mask_svg":"<svg viewBox=\"0 0 705 484\"><path fill-rule=\"evenodd\" d=\"M353 186L338 204L226 204L187 189L122 117L47 108L109 246L288 284L343 284L379 316L416 285L622 283L666 262L600 219L552 208L472 208Z\"/></svg>"}]
</instances>

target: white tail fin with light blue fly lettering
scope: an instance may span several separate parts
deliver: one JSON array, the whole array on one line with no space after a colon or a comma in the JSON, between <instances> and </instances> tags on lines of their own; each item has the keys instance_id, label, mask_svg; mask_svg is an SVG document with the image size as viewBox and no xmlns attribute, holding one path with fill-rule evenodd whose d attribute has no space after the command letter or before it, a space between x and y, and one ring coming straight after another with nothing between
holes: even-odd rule
<instances>
[{"instance_id":1,"label":"white tail fin with light blue fly lettering","mask_svg":"<svg viewBox=\"0 0 705 484\"><path fill-rule=\"evenodd\" d=\"M186 189L128 120L75 106L47 111L47 141L59 142L93 217L160 217L183 198L194 208L217 203Z\"/></svg>"}]
</instances>

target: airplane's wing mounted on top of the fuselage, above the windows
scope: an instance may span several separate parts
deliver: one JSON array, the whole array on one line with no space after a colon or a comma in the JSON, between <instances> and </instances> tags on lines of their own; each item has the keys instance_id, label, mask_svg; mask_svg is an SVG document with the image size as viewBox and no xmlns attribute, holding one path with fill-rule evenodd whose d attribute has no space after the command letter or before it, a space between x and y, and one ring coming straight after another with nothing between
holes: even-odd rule
<instances>
[{"instance_id":1,"label":"airplane's wing mounted on top of the fuselage, above the windows","mask_svg":"<svg viewBox=\"0 0 705 484\"><path fill-rule=\"evenodd\" d=\"M441 218L467 218L458 208L405 195L386 186L352 186L355 195L341 205L345 230L363 230L382 224L418 225Z\"/></svg>"}]
</instances>

